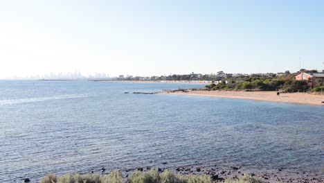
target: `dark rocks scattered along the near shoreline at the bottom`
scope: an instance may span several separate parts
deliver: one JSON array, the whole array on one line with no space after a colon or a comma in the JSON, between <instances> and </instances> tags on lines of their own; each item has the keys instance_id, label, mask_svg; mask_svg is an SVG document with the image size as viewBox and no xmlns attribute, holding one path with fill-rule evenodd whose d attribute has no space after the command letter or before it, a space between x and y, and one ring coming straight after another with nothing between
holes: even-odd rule
<instances>
[{"instance_id":1,"label":"dark rocks scattered along the near shoreline at the bottom","mask_svg":"<svg viewBox=\"0 0 324 183\"><path fill-rule=\"evenodd\" d=\"M104 168L104 167L102 167ZM226 178L239 178L244 174L249 174L255 177L260 177L264 182L324 182L324 174L323 173L306 173L305 171L293 171L287 170L285 168L278 168L274 170L272 173L253 173L251 171L246 170L246 168L242 166L217 166L208 165L208 166L168 166L167 162L164 162L160 167L152 167L152 166L143 166L136 168L128 168L128 169L120 169L123 177L127 178L135 173L136 171L148 172L151 169L155 169L159 171L159 173L163 173L165 171L171 171L172 173L178 173L182 175L210 175L210 177L215 182L223 182ZM102 171L102 169L98 170ZM103 174L109 174L110 171L108 168L105 168ZM93 173L93 172L92 172Z\"/></svg>"}]
</instances>

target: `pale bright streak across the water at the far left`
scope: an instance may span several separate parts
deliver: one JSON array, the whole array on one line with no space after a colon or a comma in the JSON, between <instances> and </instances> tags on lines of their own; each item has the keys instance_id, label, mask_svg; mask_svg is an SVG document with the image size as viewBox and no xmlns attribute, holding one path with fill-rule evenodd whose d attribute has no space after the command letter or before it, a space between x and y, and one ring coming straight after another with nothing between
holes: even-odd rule
<instances>
[{"instance_id":1,"label":"pale bright streak across the water at the far left","mask_svg":"<svg viewBox=\"0 0 324 183\"><path fill-rule=\"evenodd\" d=\"M62 100L69 98L86 98L91 97L87 95L60 95L60 96L49 96L49 97L37 97L37 98L20 98L20 99L12 99L12 100L0 100L0 105L12 105L19 103L35 103L42 101L51 101L51 100Z\"/></svg>"}]
</instances>

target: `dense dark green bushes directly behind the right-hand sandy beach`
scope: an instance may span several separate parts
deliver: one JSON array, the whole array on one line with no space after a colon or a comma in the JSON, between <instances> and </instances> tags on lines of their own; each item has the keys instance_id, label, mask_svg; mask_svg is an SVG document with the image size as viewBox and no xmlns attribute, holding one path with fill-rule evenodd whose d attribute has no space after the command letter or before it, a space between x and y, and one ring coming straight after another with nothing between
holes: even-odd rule
<instances>
[{"instance_id":1,"label":"dense dark green bushes directly behind the right-hand sandy beach","mask_svg":"<svg viewBox=\"0 0 324 183\"><path fill-rule=\"evenodd\" d=\"M206 85L211 90L254 90L254 91L282 91L282 92L322 92L323 80L318 80L312 88L309 81L296 80L294 76L278 78L246 77L241 79L229 78L218 83Z\"/></svg>"}]
</instances>

